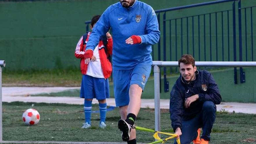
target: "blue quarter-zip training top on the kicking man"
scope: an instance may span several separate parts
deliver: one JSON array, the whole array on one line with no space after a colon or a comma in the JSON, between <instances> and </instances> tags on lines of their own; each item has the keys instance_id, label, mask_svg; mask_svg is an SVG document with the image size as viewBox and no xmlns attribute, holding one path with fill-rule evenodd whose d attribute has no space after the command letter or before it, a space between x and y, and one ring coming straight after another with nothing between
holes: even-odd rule
<instances>
[{"instance_id":1,"label":"blue quarter-zip training top on the kicking man","mask_svg":"<svg viewBox=\"0 0 256 144\"><path fill-rule=\"evenodd\" d=\"M136 0L125 8L120 2L109 6L95 24L86 50L96 47L99 38L111 28L113 36L112 64L114 70L129 70L138 63L152 65L151 45L159 41L160 31L153 8ZM126 44L132 35L141 37L141 44Z\"/></svg>"}]
</instances>

